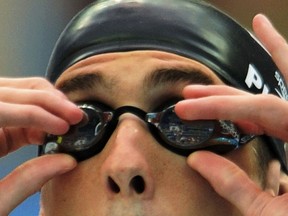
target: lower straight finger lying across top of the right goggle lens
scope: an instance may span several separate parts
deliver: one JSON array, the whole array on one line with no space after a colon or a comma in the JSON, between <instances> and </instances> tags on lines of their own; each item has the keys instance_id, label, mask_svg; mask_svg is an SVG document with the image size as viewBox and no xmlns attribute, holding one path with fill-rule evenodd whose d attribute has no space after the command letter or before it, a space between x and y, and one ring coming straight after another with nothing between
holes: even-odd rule
<instances>
[{"instance_id":1,"label":"lower straight finger lying across top of the right goggle lens","mask_svg":"<svg viewBox=\"0 0 288 216\"><path fill-rule=\"evenodd\" d=\"M273 95L224 95L188 99L178 102L175 111L185 120L231 120L245 132L288 140L288 121L283 118L288 115L287 103Z\"/></svg>"}]
</instances>

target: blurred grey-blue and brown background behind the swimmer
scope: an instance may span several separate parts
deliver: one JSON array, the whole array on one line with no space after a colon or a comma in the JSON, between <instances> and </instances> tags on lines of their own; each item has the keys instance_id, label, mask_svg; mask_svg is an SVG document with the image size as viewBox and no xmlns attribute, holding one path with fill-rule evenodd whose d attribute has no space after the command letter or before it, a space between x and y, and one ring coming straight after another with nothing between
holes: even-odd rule
<instances>
[{"instance_id":1,"label":"blurred grey-blue and brown background behind the swimmer","mask_svg":"<svg viewBox=\"0 0 288 216\"><path fill-rule=\"evenodd\" d=\"M208 0L207 0L208 1ZM0 0L0 76L44 76L53 46L72 16L92 0ZM287 0L210 0L246 28L257 13L264 13L288 38ZM0 178L37 155L25 147L0 159ZM11 216L36 216L39 193L27 199Z\"/></svg>"}]
</instances>

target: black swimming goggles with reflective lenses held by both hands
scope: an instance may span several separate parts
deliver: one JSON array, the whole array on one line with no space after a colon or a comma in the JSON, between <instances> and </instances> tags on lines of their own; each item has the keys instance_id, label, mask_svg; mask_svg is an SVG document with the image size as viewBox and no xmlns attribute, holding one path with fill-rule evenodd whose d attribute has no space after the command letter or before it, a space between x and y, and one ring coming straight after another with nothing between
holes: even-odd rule
<instances>
[{"instance_id":1,"label":"black swimming goggles with reflective lenses held by both hands","mask_svg":"<svg viewBox=\"0 0 288 216\"><path fill-rule=\"evenodd\" d=\"M145 121L162 146L183 156L204 149L224 154L255 137L242 135L236 125L227 120L182 120L174 111L175 105L151 113L133 106L123 106L113 111L93 103L78 106L86 114L84 120L71 126L64 135L47 135L40 155L67 153L78 161L88 159L105 147L117 127L119 117L124 113L132 113Z\"/></svg>"}]
</instances>

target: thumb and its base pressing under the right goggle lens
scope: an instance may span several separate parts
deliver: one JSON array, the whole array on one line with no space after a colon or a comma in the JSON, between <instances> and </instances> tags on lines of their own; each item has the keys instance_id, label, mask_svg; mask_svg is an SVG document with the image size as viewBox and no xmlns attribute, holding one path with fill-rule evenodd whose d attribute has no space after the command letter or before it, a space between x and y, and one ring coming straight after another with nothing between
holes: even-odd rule
<instances>
[{"instance_id":1,"label":"thumb and its base pressing under the right goggle lens","mask_svg":"<svg viewBox=\"0 0 288 216\"><path fill-rule=\"evenodd\" d=\"M211 152L199 151L191 154L188 164L200 173L223 198L237 207L242 215L250 216L286 216L288 212L288 187L282 185L281 194L275 196L272 192L273 178L280 175L280 164L277 162L272 166L278 166L271 173L267 190L262 191L249 179L247 174L231 161L213 154ZM213 164L213 166L207 166ZM286 176L287 178L287 176ZM287 182L287 181L286 181ZM270 190L271 188L271 190Z\"/></svg>"}]
</instances>

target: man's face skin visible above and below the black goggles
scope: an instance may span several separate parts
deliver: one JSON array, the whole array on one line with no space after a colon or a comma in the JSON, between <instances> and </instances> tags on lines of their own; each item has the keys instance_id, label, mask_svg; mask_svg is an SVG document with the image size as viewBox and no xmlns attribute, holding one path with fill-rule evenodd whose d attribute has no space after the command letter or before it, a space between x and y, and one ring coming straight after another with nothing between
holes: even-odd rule
<instances>
[{"instance_id":1,"label":"man's face skin visible above and below the black goggles","mask_svg":"<svg viewBox=\"0 0 288 216\"><path fill-rule=\"evenodd\" d=\"M196 61L137 51L83 60L65 71L56 86L74 102L100 102L111 109L130 105L153 112L181 100L184 86L199 83L223 84ZM250 174L250 149L246 145L226 157ZM130 113L120 116L99 154L43 187L42 202L45 216L238 215L186 164L186 157L161 146L146 123Z\"/></svg>"}]
</instances>

